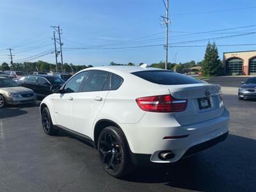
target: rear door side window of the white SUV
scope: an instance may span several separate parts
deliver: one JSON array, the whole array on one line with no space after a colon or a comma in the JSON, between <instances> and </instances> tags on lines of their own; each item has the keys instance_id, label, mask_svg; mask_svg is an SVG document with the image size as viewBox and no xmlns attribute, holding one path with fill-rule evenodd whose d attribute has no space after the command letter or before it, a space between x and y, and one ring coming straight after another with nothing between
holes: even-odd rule
<instances>
[{"instance_id":1,"label":"rear door side window of the white SUV","mask_svg":"<svg viewBox=\"0 0 256 192\"><path fill-rule=\"evenodd\" d=\"M102 91L103 88L104 90L108 89L108 77L109 72L93 70L84 84L83 92L97 92Z\"/></svg>"}]
</instances>

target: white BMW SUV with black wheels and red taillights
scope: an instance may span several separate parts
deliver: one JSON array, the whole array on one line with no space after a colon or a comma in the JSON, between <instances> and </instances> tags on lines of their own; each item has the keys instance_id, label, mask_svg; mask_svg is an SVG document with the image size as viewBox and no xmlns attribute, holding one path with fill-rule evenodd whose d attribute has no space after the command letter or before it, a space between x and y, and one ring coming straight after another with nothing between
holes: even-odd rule
<instances>
[{"instance_id":1,"label":"white BMW SUV with black wheels and red taillights","mask_svg":"<svg viewBox=\"0 0 256 192\"><path fill-rule=\"evenodd\" d=\"M46 134L63 129L99 150L113 177L132 164L173 163L225 140L219 85L142 67L81 70L40 106Z\"/></svg>"}]
</instances>

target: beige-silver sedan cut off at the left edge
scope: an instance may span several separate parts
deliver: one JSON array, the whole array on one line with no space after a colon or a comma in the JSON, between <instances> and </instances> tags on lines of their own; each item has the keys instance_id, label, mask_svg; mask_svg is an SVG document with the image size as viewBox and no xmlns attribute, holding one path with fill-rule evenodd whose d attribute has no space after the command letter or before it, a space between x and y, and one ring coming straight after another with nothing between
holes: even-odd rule
<instances>
[{"instance_id":1,"label":"beige-silver sedan cut off at the left edge","mask_svg":"<svg viewBox=\"0 0 256 192\"><path fill-rule=\"evenodd\" d=\"M25 104L36 102L33 90L19 86L8 77L0 76L0 108L6 104Z\"/></svg>"}]
</instances>

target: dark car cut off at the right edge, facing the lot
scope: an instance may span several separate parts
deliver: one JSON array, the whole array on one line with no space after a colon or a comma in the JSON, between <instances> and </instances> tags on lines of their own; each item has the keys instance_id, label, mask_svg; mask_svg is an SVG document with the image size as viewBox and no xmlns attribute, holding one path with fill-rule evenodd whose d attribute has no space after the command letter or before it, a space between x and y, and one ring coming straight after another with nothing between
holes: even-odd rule
<instances>
[{"instance_id":1,"label":"dark car cut off at the right edge, facing the lot","mask_svg":"<svg viewBox=\"0 0 256 192\"><path fill-rule=\"evenodd\" d=\"M250 77L241 84L238 89L238 99L256 99L256 77Z\"/></svg>"}]
</instances>

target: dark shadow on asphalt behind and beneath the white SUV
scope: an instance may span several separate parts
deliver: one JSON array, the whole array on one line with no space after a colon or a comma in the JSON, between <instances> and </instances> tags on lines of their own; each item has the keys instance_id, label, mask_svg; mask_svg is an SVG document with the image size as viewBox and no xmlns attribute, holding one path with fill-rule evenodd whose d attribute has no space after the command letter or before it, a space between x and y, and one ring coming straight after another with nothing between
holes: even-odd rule
<instances>
[{"instance_id":1,"label":"dark shadow on asphalt behind and beneath the white SUV","mask_svg":"<svg viewBox=\"0 0 256 192\"><path fill-rule=\"evenodd\" d=\"M196 191L256 191L256 141L229 135L215 147L178 163L144 167L123 178Z\"/></svg>"}]
</instances>

